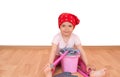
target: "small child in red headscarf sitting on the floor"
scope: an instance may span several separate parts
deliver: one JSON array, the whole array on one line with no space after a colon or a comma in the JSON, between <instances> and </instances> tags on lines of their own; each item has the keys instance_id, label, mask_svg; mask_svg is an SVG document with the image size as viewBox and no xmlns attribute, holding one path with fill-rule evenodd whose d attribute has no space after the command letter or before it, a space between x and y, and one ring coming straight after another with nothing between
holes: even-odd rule
<instances>
[{"instance_id":1,"label":"small child in red headscarf sitting on the floor","mask_svg":"<svg viewBox=\"0 0 120 77\"><path fill-rule=\"evenodd\" d=\"M49 62L44 67L46 77L52 77L56 66L54 68L51 68L51 64L55 59L59 57L60 49L65 47L76 48L80 50L81 57L79 58L78 66L80 66L81 70L84 73L88 74L90 77L102 77L105 75L105 69L88 72L88 61L85 51L82 48L79 37L76 34L72 33L75 29L75 26L79 23L80 20L78 17L71 13L62 13L58 17L58 27L60 29L60 33L56 34L52 41L52 49L49 57Z\"/></svg>"}]
</instances>

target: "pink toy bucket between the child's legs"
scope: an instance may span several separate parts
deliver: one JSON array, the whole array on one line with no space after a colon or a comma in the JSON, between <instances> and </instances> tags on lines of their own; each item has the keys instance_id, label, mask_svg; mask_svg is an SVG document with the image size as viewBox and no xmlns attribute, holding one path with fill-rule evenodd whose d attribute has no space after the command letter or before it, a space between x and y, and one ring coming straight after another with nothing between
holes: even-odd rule
<instances>
[{"instance_id":1,"label":"pink toy bucket between the child's legs","mask_svg":"<svg viewBox=\"0 0 120 77\"><path fill-rule=\"evenodd\" d=\"M63 72L71 72L71 73L77 72L78 59L79 59L78 55L65 56L61 60Z\"/></svg>"}]
</instances>

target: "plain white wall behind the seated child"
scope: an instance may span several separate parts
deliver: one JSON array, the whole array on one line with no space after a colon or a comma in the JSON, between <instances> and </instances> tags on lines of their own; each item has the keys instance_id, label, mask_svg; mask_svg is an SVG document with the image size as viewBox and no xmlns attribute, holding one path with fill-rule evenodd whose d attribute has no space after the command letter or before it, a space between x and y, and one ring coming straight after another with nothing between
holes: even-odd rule
<instances>
[{"instance_id":1,"label":"plain white wall behind the seated child","mask_svg":"<svg viewBox=\"0 0 120 77\"><path fill-rule=\"evenodd\" d=\"M51 45L62 12L80 18L83 45L120 45L119 0L0 0L0 45Z\"/></svg>"}]
</instances>

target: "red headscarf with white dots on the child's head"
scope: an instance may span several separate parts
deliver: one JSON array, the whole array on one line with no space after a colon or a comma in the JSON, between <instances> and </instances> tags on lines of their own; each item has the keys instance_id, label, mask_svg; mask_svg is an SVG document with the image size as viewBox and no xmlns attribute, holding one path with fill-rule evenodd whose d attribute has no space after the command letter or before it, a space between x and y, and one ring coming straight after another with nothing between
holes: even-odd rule
<instances>
[{"instance_id":1,"label":"red headscarf with white dots on the child's head","mask_svg":"<svg viewBox=\"0 0 120 77\"><path fill-rule=\"evenodd\" d=\"M75 27L76 25L78 25L80 23L80 20L77 18L77 16L75 16L74 14L71 13L62 13L59 17L58 17L58 25L60 28L60 25L63 22L70 22L73 24L73 26Z\"/></svg>"}]
</instances>

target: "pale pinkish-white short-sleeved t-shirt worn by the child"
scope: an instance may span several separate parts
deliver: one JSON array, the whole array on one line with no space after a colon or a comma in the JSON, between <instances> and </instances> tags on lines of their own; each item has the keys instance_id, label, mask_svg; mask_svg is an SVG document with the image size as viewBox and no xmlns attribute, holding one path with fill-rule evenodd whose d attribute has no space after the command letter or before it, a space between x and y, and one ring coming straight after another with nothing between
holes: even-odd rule
<instances>
[{"instance_id":1,"label":"pale pinkish-white short-sleeved t-shirt worn by the child","mask_svg":"<svg viewBox=\"0 0 120 77\"><path fill-rule=\"evenodd\" d=\"M81 44L79 37L76 34L71 34L68 42L64 42L61 33L58 33L54 36L53 44L56 44L58 46L56 53L58 54L59 50L62 48L74 48L75 45Z\"/></svg>"}]
</instances>

